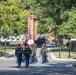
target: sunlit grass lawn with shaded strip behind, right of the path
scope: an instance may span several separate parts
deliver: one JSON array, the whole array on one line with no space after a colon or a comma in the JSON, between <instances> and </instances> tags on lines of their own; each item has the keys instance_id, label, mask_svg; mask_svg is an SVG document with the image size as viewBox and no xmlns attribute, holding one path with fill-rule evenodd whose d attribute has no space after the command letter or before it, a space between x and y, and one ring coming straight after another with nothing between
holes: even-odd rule
<instances>
[{"instance_id":1,"label":"sunlit grass lawn with shaded strip behind, right of the path","mask_svg":"<svg viewBox=\"0 0 76 75\"><path fill-rule=\"evenodd\" d=\"M56 47L56 48L51 48L51 51L54 53L54 55L59 58L59 53L60 53L60 58L64 58L64 59L76 59L76 52L75 51L70 51L70 55L71 57L68 58L69 55L69 49L68 48L62 48L62 50L60 50L60 48Z\"/></svg>"}]
</instances>

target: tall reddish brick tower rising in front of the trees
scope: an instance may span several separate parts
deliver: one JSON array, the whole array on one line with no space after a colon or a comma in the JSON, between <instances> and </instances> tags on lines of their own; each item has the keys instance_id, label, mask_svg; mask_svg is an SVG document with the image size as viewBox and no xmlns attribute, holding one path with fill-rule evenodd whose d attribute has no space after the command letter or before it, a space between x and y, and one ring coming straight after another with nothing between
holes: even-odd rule
<instances>
[{"instance_id":1,"label":"tall reddish brick tower rising in front of the trees","mask_svg":"<svg viewBox=\"0 0 76 75\"><path fill-rule=\"evenodd\" d=\"M30 13L28 17L28 35L30 35L31 39L37 40L37 25L38 21L36 20L36 15Z\"/></svg>"}]
</instances>

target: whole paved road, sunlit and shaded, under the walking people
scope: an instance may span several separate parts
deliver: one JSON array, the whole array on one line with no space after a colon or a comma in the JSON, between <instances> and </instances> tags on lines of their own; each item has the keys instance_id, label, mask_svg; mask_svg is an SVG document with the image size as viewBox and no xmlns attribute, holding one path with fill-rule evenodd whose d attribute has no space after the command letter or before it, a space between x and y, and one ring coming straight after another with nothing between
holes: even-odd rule
<instances>
[{"instance_id":1,"label":"whole paved road, sunlit and shaded, under the walking people","mask_svg":"<svg viewBox=\"0 0 76 75\"><path fill-rule=\"evenodd\" d=\"M16 68L14 55L0 58L0 75L76 75L76 69L72 67L72 63L75 62L57 61L48 57L47 63L41 64L39 52L38 48L36 60L29 68L25 68L25 62L21 68Z\"/></svg>"}]
</instances>

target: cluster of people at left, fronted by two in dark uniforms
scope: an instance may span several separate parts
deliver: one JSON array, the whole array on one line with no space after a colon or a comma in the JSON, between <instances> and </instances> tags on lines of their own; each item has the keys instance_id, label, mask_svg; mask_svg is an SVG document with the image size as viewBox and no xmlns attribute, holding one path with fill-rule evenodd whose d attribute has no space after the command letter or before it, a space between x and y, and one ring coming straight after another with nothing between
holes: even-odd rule
<instances>
[{"instance_id":1,"label":"cluster of people at left, fronted by two in dark uniforms","mask_svg":"<svg viewBox=\"0 0 76 75\"><path fill-rule=\"evenodd\" d=\"M21 46L21 44L17 45L15 49L15 56L17 58L18 68L21 67L22 60L26 62L26 68L29 67L29 63L32 63L34 61L36 48L33 47L30 47L27 42L25 42L23 46Z\"/></svg>"}]
</instances>

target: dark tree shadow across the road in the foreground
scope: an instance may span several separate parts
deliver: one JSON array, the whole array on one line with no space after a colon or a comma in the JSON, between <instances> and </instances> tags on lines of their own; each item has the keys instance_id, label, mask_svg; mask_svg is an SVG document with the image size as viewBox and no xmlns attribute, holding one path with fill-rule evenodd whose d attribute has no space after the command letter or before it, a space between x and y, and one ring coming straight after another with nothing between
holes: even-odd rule
<instances>
[{"instance_id":1,"label":"dark tree shadow across the road in the foreground","mask_svg":"<svg viewBox=\"0 0 76 75\"><path fill-rule=\"evenodd\" d=\"M16 68L16 67L10 66L10 68ZM0 75L75 75L75 74L76 70L71 67L66 67L66 64L64 63L47 64L45 66L30 66L29 68L21 67L17 68L17 70L0 71Z\"/></svg>"}]
</instances>

